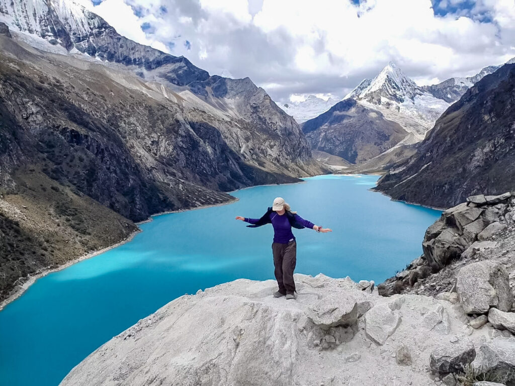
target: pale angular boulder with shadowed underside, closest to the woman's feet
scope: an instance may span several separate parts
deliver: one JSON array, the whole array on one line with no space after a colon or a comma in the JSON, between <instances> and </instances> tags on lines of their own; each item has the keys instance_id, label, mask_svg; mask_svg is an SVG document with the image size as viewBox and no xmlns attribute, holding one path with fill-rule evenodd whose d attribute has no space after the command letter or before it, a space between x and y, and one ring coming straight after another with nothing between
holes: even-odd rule
<instances>
[{"instance_id":1,"label":"pale angular boulder with shadowed underside, closest to the woman's feet","mask_svg":"<svg viewBox=\"0 0 515 386\"><path fill-rule=\"evenodd\" d=\"M323 329L352 326L358 318L356 299L349 294L330 293L308 308L306 315Z\"/></svg>"}]
</instances>

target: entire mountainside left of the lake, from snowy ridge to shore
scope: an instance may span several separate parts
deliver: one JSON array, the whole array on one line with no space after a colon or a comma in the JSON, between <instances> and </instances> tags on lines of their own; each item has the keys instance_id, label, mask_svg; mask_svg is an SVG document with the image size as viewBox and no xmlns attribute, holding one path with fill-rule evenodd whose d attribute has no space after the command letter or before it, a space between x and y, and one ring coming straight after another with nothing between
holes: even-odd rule
<instances>
[{"instance_id":1,"label":"entire mountainside left of the lake, from snowy ridge to shore","mask_svg":"<svg viewBox=\"0 0 515 386\"><path fill-rule=\"evenodd\" d=\"M0 297L133 221L327 170L249 78L210 76L72 1L0 0L0 117Z\"/></svg>"}]
</instances>

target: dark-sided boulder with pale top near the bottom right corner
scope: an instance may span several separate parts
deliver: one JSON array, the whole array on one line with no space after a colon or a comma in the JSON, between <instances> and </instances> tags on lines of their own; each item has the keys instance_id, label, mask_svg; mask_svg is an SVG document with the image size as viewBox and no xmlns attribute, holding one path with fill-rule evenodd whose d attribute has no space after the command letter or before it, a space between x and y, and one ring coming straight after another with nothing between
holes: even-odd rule
<instances>
[{"instance_id":1,"label":"dark-sided boulder with pale top near the bottom right corner","mask_svg":"<svg viewBox=\"0 0 515 386\"><path fill-rule=\"evenodd\" d=\"M469 340L449 343L433 350L430 356L431 370L439 375L460 373L476 357L474 345Z\"/></svg>"}]
</instances>

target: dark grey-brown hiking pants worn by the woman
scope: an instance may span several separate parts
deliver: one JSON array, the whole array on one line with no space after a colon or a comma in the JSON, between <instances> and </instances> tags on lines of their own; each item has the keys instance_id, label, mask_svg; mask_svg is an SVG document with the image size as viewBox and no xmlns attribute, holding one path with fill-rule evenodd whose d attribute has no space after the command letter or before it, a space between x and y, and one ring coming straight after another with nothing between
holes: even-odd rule
<instances>
[{"instance_id":1,"label":"dark grey-brown hiking pants worn by the woman","mask_svg":"<svg viewBox=\"0 0 515 386\"><path fill-rule=\"evenodd\" d=\"M295 240L287 244L273 242L272 252L273 266L276 268L274 274L279 285L279 292L293 294L295 292L293 271L297 264L297 242Z\"/></svg>"}]
</instances>

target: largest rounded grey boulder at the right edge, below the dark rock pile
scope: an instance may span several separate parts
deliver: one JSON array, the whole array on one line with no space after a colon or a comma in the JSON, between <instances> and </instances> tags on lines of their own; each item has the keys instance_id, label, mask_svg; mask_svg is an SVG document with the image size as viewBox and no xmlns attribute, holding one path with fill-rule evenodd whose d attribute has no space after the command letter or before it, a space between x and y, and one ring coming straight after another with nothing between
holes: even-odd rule
<instances>
[{"instance_id":1,"label":"largest rounded grey boulder at the right edge, below the dark rock pile","mask_svg":"<svg viewBox=\"0 0 515 386\"><path fill-rule=\"evenodd\" d=\"M456 292L466 313L486 313L490 307L511 310L508 274L499 261L478 261L461 268Z\"/></svg>"}]
</instances>

